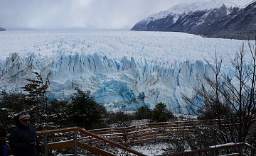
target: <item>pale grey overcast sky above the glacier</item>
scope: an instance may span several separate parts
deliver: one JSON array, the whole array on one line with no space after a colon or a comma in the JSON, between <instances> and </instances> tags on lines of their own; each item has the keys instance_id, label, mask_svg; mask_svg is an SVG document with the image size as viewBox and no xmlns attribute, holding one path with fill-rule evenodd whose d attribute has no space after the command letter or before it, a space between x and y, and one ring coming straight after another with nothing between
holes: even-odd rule
<instances>
[{"instance_id":1,"label":"pale grey overcast sky above the glacier","mask_svg":"<svg viewBox=\"0 0 256 156\"><path fill-rule=\"evenodd\" d=\"M0 0L4 28L132 28L182 2L198 0Z\"/></svg>"}]
</instances>

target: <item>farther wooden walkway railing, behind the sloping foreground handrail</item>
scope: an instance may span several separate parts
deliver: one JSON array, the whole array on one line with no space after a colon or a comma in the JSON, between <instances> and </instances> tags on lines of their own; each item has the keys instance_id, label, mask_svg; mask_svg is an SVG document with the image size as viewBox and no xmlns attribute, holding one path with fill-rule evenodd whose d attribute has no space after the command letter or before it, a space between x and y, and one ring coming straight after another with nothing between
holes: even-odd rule
<instances>
[{"instance_id":1,"label":"farther wooden walkway railing, behind the sloping foreground handrail","mask_svg":"<svg viewBox=\"0 0 256 156\"><path fill-rule=\"evenodd\" d=\"M214 123L212 121L211 123ZM104 138L113 140L116 143L140 143L159 142L165 139L169 134L178 136L193 133L195 126L207 126L207 121L174 121L164 123L147 123L138 126L128 126L122 128L102 128L90 130L90 132L100 135ZM84 141L97 143L90 137L83 137Z\"/></svg>"}]
</instances>

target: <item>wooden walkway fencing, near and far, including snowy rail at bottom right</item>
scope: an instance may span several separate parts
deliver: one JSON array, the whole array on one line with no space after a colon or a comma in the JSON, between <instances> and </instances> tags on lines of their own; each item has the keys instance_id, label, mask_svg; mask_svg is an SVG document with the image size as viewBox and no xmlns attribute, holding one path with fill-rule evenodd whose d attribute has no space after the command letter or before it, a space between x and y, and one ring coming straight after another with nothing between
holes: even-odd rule
<instances>
[{"instance_id":1,"label":"wooden walkway fencing, near and far, including snowy rail at bottom right","mask_svg":"<svg viewBox=\"0 0 256 156\"><path fill-rule=\"evenodd\" d=\"M126 154L143 155L141 152L126 147L127 143L143 144L145 142L158 142L167 138L170 134L174 136L187 135L192 133L195 126L209 126L216 121L174 121L165 123L148 123L138 126L128 126L122 128L102 128L95 130L85 130L79 127L60 128L56 130L37 131L38 138L45 155L49 150L73 148L74 155L78 155L78 148L90 151L97 155L115 155L108 149L102 149L102 146L119 148ZM101 145L101 146L99 146ZM237 144L238 147L247 147L244 144ZM223 145L223 148L229 148ZM193 155L202 151L218 150L219 148L209 148L196 151L178 152L171 155Z\"/></svg>"}]
</instances>

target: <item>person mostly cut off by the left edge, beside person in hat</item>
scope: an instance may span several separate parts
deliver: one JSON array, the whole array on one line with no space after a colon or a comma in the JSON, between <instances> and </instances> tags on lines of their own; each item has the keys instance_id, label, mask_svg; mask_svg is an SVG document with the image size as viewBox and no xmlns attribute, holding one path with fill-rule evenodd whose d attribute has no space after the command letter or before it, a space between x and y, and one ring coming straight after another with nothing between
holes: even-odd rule
<instances>
[{"instance_id":1,"label":"person mostly cut off by the left edge, beside person in hat","mask_svg":"<svg viewBox=\"0 0 256 156\"><path fill-rule=\"evenodd\" d=\"M6 129L0 125L0 156L8 156L8 145L6 144Z\"/></svg>"}]
</instances>

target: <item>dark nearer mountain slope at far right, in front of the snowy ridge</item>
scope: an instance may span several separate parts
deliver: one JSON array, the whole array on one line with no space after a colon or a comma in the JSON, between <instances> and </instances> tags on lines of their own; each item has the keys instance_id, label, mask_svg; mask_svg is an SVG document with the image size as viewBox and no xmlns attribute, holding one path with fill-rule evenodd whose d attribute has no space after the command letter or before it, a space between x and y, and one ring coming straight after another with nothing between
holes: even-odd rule
<instances>
[{"instance_id":1,"label":"dark nearer mountain slope at far right, in front of the snowy ridge","mask_svg":"<svg viewBox=\"0 0 256 156\"><path fill-rule=\"evenodd\" d=\"M211 24L203 34L213 38L255 40L256 2Z\"/></svg>"}]
</instances>

